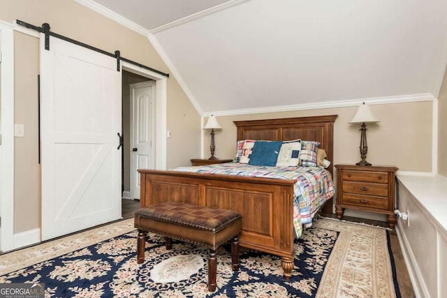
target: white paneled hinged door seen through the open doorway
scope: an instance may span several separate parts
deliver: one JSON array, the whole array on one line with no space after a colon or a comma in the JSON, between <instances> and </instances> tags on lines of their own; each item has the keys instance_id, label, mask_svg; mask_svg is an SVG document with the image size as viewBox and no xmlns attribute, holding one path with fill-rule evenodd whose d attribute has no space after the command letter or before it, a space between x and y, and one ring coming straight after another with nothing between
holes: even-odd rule
<instances>
[{"instance_id":1,"label":"white paneled hinged door seen through the open doorway","mask_svg":"<svg viewBox=\"0 0 447 298\"><path fill-rule=\"evenodd\" d=\"M131 84L131 198L140 198L138 169L152 169L155 144L154 81Z\"/></svg>"}]
</instances>

